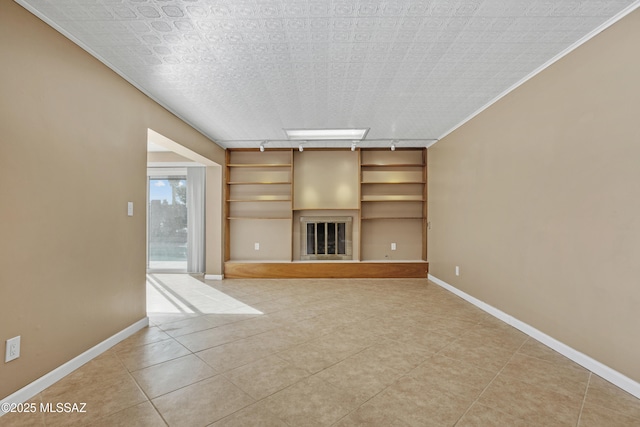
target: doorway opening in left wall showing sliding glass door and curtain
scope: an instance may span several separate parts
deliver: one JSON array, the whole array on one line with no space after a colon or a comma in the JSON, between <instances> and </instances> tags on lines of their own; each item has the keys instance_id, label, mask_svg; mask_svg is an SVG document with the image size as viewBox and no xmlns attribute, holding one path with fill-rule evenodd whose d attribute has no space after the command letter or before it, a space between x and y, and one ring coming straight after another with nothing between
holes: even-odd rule
<instances>
[{"instance_id":1,"label":"doorway opening in left wall showing sliding glass door and curtain","mask_svg":"<svg viewBox=\"0 0 640 427\"><path fill-rule=\"evenodd\" d=\"M147 216L146 227L146 267L148 271L151 270L149 272L204 273L205 279L222 278L222 171L221 165L211 158L153 129L147 130L147 191L151 196L147 198L147 213L151 213L151 218ZM149 209L152 203L159 206ZM162 221L163 228L159 229L155 220L167 217L172 219ZM159 237L164 240L159 240Z\"/></svg>"}]
</instances>

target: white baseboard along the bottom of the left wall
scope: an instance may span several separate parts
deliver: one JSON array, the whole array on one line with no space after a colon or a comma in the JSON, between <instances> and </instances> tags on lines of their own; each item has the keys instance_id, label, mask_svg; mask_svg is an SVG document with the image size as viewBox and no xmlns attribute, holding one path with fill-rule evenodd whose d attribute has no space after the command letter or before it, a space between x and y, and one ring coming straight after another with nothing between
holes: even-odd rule
<instances>
[{"instance_id":1,"label":"white baseboard along the bottom of the left wall","mask_svg":"<svg viewBox=\"0 0 640 427\"><path fill-rule=\"evenodd\" d=\"M27 400L31 399L36 394L40 393L47 387L55 384L60 381L65 376L69 375L71 372L75 371L85 363L95 359L105 351L109 350L114 345L118 344L120 341L130 337L135 334L139 330L149 326L149 318L145 317L143 319L138 320L131 326L121 330L115 335L107 338L99 344L91 347L89 350L80 354L79 356L74 357L67 363L58 366L53 371L44 374L37 380L33 381L30 384L22 387L20 390L15 393L5 397L0 400L0 408L4 406L5 403L23 403ZM3 416L6 412L0 409L0 417Z\"/></svg>"}]
</instances>

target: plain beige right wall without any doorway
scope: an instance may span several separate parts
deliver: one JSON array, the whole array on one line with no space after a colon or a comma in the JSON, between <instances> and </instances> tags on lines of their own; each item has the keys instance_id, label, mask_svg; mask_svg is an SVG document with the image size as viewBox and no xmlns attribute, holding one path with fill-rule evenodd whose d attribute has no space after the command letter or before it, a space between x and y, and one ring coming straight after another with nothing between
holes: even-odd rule
<instances>
[{"instance_id":1,"label":"plain beige right wall without any doorway","mask_svg":"<svg viewBox=\"0 0 640 427\"><path fill-rule=\"evenodd\" d=\"M636 381L638 40L640 11L438 142L428 166L430 273Z\"/></svg>"}]
</instances>

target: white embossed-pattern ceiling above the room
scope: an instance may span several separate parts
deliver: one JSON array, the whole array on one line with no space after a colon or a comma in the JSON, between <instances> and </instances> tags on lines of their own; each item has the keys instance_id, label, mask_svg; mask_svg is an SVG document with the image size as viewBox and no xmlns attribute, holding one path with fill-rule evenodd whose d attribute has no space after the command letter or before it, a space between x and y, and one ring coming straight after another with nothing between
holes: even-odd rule
<instances>
[{"instance_id":1,"label":"white embossed-pattern ceiling above the room","mask_svg":"<svg viewBox=\"0 0 640 427\"><path fill-rule=\"evenodd\" d=\"M640 3L16 1L227 148L428 146Z\"/></svg>"}]
</instances>

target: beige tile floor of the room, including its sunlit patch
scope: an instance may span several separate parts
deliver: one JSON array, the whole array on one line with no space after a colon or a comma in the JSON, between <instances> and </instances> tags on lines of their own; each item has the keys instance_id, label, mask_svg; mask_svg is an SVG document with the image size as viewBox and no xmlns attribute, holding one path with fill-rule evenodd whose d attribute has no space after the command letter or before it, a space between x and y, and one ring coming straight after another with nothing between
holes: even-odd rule
<instances>
[{"instance_id":1,"label":"beige tile floor of the room, including its sunlit patch","mask_svg":"<svg viewBox=\"0 0 640 427\"><path fill-rule=\"evenodd\" d=\"M10 426L640 426L640 400L426 280L148 276L151 326Z\"/></svg>"}]
</instances>

